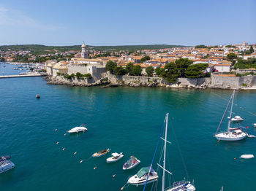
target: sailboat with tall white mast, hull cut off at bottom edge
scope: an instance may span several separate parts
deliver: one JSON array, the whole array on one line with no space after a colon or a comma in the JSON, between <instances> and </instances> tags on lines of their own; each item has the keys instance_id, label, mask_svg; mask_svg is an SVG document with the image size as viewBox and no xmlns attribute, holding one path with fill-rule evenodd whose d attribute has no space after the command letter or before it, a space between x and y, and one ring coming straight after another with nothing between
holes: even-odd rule
<instances>
[{"instance_id":1,"label":"sailboat with tall white mast, hull cut off at bottom edge","mask_svg":"<svg viewBox=\"0 0 256 191\"><path fill-rule=\"evenodd\" d=\"M165 188L165 172L167 172L168 174L172 175L170 173L170 171L167 171L165 169L165 157L166 157L166 143L169 143L170 144L170 141L167 141L167 125L168 125L168 113L165 115L165 138L162 138L160 136L160 139L162 139L163 141L165 141L165 145L164 145L164 158L162 160L162 165L159 165L159 168L162 168L162 191L195 191L195 186L189 182L189 181L185 181L185 180L182 180L180 182L174 182L173 185L171 185L170 187L167 187ZM153 160L154 160L154 157L153 157ZM151 164L152 166L152 164ZM151 168L150 166L150 168ZM147 177L148 179L148 177ZM147 184L147 182L146 182ZM146 184L144 185L144 189L143 191L145 190L146 188Z\"/></svg>"}]
</instances>

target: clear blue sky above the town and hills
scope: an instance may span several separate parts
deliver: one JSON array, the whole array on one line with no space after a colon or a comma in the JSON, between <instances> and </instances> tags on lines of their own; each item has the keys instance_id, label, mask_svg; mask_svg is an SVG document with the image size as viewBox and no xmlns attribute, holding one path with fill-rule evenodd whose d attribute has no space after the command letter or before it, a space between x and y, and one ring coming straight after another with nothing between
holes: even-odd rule
<instances>
[{"instance_id":1,"label":"clear blue sky above the town and hills","mask_svg":"<svg viewBox=\"0 0 256 191\"><path fill-rule=\"evenodd\" d=\"M1 0L0 44L256 42L255 0Z\"/></svg>"}]
</instances>

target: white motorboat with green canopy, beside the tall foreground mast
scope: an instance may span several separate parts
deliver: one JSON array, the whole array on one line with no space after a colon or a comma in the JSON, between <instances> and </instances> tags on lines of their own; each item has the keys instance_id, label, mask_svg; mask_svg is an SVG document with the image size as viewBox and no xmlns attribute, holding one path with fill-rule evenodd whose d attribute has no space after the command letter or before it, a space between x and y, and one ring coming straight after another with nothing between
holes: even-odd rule
<instances>
[{"instance_id":1,"label":"white motorboat with green canopy, beside the tall foreground mast","mask_svg":"<svg viewBox=\"0 0 256 191\"><path fill-rule=\"evenodd\" d=\"M138 186L138 185L143 185L146 182L147 184L151 182L155 182L157 181L157 179L158 179L157 172L155 172L153 168L143 167L143 168L140 168L140 171L138 171L137 174L135 174L134 176L128 179L128 184Z\"/></svg>"}]
</instances>

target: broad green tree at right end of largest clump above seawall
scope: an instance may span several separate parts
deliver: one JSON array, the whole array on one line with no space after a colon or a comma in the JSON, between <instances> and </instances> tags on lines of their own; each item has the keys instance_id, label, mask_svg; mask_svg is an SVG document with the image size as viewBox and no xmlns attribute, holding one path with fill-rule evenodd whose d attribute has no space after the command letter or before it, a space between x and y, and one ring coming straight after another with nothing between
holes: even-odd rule
<instances>
[{"instance_id":1,"label":"broad green tree at right end of largest clump above seawall","mask_svg":"<svg viewBox=\"0 0 256 191\"><path fill-rule=\"evenodd\" d=\"M208 67L208 63L197 63L190 65L185 71L185 77L196 78L203 77L203 70Z\"/></svg>"}]
</instances>

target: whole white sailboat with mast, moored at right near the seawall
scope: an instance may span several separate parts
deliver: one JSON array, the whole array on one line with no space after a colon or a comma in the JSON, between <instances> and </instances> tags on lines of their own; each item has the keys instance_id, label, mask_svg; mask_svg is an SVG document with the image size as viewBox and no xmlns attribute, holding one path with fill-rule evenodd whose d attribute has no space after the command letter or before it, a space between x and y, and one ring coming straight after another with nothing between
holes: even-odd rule
<instances>
[{"instance_id":1,"label":"whole white sailboat with mast, moored at right near the seawall","mask_svg":"<svg viewBox=\"0 0 256 191\"><path fill-rule=\"evenodd\" d=\"M244 138L246 138L247 133L245 133L241 128L231 128L230 123L232 122L232 110L233 110L233 101L234 101L234 96L235 96L236 90L233 90L233 93L230 97L230 101L228 101L227 107L225 109L225 112L222 116L222 120L219 122L219 127L217 128L217 132L215 133L214 137L218 139L219 141L240 141ZM230 106L231 103L231 108L230 108L230 116L227 117L228 119L228 124L227 124L227 131L225 132L220 132L219 129L222 125L222 122L224 120L225 114L227 113L227 109Z\"/></svg>"}]
</instances>

